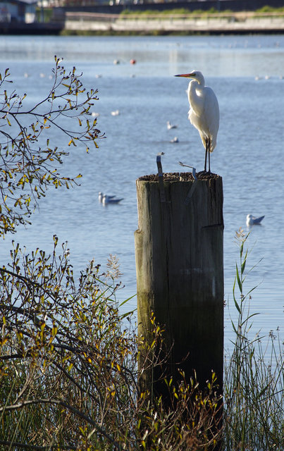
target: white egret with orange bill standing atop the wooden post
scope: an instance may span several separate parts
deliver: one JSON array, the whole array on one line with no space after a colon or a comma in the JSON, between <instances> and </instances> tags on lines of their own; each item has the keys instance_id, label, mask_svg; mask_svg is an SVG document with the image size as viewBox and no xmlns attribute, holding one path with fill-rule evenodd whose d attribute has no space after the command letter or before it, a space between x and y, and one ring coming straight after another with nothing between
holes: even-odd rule
<instances>
[{"instance_id":1,"label":"white egret with orange bill standing atop the wooden post","mask_svg":"<svg viewBox=\"0 0 284 451\"><path fill-rule=\"evenodd\" d=\"M216 147L219 128L219 106L217 97L211 87L205 86L204 76L198 70L191 73L175 75L175 77L192 78L188 85L187 96L190 102L188 118L197 128L205 147L205 165L208 154L208 171L210 172L210 152Z\"/></svg>"}]
</instances>

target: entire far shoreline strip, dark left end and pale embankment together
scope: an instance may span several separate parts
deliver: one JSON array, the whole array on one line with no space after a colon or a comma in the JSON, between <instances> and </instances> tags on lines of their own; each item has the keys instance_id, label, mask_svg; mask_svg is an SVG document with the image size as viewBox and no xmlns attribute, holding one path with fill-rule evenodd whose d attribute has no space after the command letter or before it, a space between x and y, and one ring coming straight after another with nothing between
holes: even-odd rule
<instances>
[{"instance_id":1,"label":"entire far shoreline strip, dark left end and pale embankment together","mask_svg":"<svg viewBox=\"0 0 284 451\"><path fill-rule=\"evenodd\" d=\"M57 9L57 8L55 8ZM1 35L284 34L284 12L94 13L63 11L47 23L0 23Z\"/></svg>"}]
</instances>

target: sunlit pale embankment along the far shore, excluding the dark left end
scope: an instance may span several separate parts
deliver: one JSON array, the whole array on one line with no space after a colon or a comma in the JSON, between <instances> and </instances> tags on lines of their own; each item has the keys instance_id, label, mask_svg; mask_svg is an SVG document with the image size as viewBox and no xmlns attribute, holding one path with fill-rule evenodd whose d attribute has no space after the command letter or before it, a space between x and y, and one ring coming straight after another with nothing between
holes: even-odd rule
<instances>
[{"instance_id":1,"label":"sunlit pale embankment along the far shore, excluding the dark left end","mask_svg":"<svg viewBox=\"0 0 284 451\"><path fill-rule=\"evenodd\" d=\"M218 13L209 15L119 15L65 13L65 30L118 33L284 33L284 13Z\"/></svg>"}]
</instances>

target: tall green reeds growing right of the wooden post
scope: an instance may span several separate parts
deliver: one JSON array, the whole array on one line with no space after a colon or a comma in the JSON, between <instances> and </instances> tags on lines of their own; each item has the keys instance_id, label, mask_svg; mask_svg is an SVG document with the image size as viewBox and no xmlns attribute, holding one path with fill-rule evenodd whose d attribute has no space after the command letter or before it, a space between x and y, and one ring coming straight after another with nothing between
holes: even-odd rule
<instances>
[{"instance_id":1,"label":"tall green reeds growing right of the wooden post","mask_svg":"<svg viewBox=\"0 0 284 451\"><path fill-rule=\"evenodd\" d=\"M233 352L224 381L224 442L226 450L280 450L284 447L283 343L271 331L268 338L250 334L252 290L245 294L248 235L236 234L240 262L236 265L233 301L237 322ZM252 336L251 336L252 335ZM264 344L264 340L266 343Z\"/></svg>"}]
</instances>

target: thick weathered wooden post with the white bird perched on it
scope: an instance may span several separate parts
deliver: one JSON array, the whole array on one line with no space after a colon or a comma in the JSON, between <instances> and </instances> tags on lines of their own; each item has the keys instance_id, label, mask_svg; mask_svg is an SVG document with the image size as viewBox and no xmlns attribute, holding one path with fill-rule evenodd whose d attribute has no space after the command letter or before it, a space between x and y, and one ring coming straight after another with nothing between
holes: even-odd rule
<instances>
[{"instance_id":1,"label":"thick weathered wooden post with the white bird perched on it","mask_svg":"<svg viewBox=\"0 0 284 451\"><path fill-rule=\"evenodd\" d=\"M160 394L161 378L175 381L178 369L187 381L196 371L201 387L213 370L223 390L222 178L197 178L163 174L162 190L157 175L136 181L138 333L151 342L154 312L170 350L161 367L144 371L140 386Z\"/></svg>"}]
</instances>

